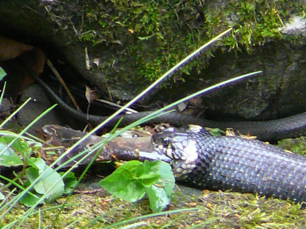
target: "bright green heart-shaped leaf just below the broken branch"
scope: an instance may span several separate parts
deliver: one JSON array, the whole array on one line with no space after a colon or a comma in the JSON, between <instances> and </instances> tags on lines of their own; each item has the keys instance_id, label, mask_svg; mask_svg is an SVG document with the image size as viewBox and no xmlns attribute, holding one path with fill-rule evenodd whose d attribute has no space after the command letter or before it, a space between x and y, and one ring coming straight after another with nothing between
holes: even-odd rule
<instances>
[{"instance_id":1,"label":"bright green heart-shaped leaf just below the broken branch","mask_svg":"<svg viewBox=\"0 0 306 229\"><path fill-rule=\"evenodd\" d=\"M102 188L128 202L135 202L145 195L145 189L138 178L144 174L140 161L129 161L99 182Z\"/></svg>"}]
</instances>

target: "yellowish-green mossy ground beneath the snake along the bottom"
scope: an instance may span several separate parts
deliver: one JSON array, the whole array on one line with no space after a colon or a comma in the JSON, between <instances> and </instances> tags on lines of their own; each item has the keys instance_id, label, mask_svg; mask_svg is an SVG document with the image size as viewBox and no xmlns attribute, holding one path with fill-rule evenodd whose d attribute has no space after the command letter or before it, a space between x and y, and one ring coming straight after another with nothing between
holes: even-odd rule
<instances>
[{"instance_id":1,"label":"yellowish-green mossy ground beneath the snake along the bottom","mask_svg":"<svg viewBox=\"0 0 306 229\"><path fill-rule=\"evenodd\" d=\"M305 137L299 139L286 139L279 143L285 149L305 152ZM80 193L74 194L59 216L55 228L64 228L70 223L78 221L73 228L87 225L98 217L97 222L85 228L100 228L121 222L125 218L133 218L150 214L147 199L137 204L116 199L104 190L97 190L98 186L84 183L80 186ZM97 190L97 191L95 191ZM65 197L56 202L40 207L41 210L59 206ZM241 194L238 192L212 192L208 190L195 190L177 186L172 196L169 209L182 209L201 207L196 211L181 212L161 217L146 218L142 221L146 225L138 228L188 228L204 222L199 228L303 228L306 225L306 210L299 204L290 201L258 197L255 194ZM7 215L2 224L18 218L27 208L19 205ZM58 209L41 212L42 226L52 223ZM21 228L37 228L38 214L31 216L23 223ZM103 228L103 227L102 227Z\"/></svg>"}]
</instances>

